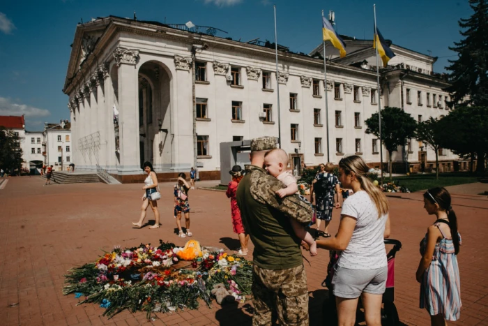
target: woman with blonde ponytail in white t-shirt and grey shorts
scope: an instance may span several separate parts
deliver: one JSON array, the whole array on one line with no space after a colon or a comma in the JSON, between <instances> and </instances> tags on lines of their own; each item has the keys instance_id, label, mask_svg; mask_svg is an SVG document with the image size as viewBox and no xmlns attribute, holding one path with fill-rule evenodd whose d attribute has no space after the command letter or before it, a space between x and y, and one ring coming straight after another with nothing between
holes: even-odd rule
<instances>
[{"instance_id":1,"label":"woman with blonde ponytail in white t-shirt and grey shorts","mask_svg":"<svg viewBox=\"0 0 488 326\"><path fill-rule=\"evenodd\" d=\"M388 275L383 239L390 236L390 217L388 200L368 179L368 171L360 156L339 162L340 182L354 194L342 204L337 235L317 241L319 248L340 251L332 280L339 325L354 325L360 296L366 324L381 325Z\"/></svg>"}]
</instances>

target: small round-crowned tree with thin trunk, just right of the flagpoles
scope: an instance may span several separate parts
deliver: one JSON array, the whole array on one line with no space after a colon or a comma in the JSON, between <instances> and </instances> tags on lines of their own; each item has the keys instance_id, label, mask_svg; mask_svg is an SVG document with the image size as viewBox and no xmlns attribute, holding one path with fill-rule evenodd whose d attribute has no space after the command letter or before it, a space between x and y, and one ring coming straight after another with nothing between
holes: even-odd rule
<instances>
[{"instance_id":1,"label":"small round-crowned tree with thin trunk, just right of the flagpoles","mask_svg":"<svg viewBox=\"0 0 488 326\"><path fill-rule=\"evenodd\" d=\"M366 133L372 133L379 138L379 116L374 113L369 119L365 121L367 125ZM381 110L381 138L383 145L388 151L388 170L391 176L391 156L397 147L405 146L408 138L413 138L417 122L410 114L404 112L400 108L385 107ZM383 167L381 167L383 170Z\"/></svg>"}]
</instances>

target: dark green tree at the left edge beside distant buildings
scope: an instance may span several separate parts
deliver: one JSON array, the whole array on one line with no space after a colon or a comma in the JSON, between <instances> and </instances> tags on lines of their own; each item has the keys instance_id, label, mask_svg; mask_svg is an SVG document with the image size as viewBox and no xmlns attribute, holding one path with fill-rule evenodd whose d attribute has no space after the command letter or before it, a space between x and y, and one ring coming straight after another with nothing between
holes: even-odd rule
<instances>
[{"instance_id":1,"label":"dark green tree at the left edge beside distant buildings","mask_svg":"<svg viewBox=\"0 0 488 326\"><path fill-rule=\"evenodd\" d=\"M22 168L20 138L3 126L0 126L0 168L5 171L18 170L19 172Z\"/></svg>"}]
</instances>

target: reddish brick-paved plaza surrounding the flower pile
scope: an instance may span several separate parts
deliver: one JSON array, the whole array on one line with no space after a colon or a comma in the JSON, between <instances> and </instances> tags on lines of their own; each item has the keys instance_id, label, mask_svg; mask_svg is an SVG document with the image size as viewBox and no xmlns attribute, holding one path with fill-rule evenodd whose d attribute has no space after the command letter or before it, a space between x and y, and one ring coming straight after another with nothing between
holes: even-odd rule
<instances>
[{"instance_id":1,"label":"reddish brick-paved plaza surrounding the flower pile","mask_svg":"<svg viewBox=\"0 0 488 326\"><path fill-rule=\"evenodd\" d=\"M104 309L98 305L76 306L79 301L74 295L61 293L63 274L71 267L93 262L114 245L158 244L158 239L185 244L186 239L174 233L172 184L161 185L162 228L156 230L131 225L139 217L142 184L43 184L40 177L14 177L0 186L1 325L250 325L250 300L240 306L221 308L214 302L212 309L201 305L197 311L157 313L151 321L145 313L128 311L108 320L100 316ZM199 186L204 184L215 182ZM190 191L189 197L194 238L204 246L235 249L238 241L224 193L199 189ZM422 209L421 193L399 197L390 197L392 238L403 244L395 267L395 304L405 325L429 325L427 312L418 309L415 270L420 260L418 244L434 218ZM459 253L463 309L455 324L488 325L488 198L453 195L452 207L463 237ZM332 232L337 230L339 214L334 212ZM150 209L148 221L153 223ZM308 259L310 324L323 325L321 304L327 289L321 282L328 251Z\"/></svg>"}]
</instances>

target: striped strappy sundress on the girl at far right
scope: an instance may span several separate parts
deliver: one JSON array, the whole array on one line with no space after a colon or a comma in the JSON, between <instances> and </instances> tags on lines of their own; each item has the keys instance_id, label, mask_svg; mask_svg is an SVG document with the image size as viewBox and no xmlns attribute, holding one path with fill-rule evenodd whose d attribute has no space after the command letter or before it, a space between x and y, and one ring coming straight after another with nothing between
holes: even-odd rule
<instances>
[{"instance_id":1,"label":"striped strappy sundress on the girl at far right","mask_svg":"<svg viewBox=\"0 0 488 326\"><path fill-rule=\"evenodd\" d=\"M439 228L438 224L434 225ZM441 228L439 230L442 233ZM461 235L457 235L461 244ZM420 308L427 309L431 316L443 314L445 320L455 321L459 319L462 306L459 268L452 239L446 238L443 233L442 236L420 283ZM422 255L426 246L427 235L420 242Z\"/></svg>"}]
</instances>

